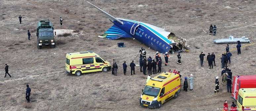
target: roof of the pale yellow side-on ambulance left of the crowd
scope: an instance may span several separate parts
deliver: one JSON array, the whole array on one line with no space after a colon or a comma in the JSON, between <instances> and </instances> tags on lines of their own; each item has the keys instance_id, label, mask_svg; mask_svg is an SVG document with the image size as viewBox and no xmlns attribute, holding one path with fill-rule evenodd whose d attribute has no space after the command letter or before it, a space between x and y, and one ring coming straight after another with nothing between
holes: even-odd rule
<instances>
[{"instance_id":1,"label":"roof of the pale yellow side-on ambulance left of the crowd","mask_svg":"<svg viewBox=\"0 0 256 111\"><path fill-rule=\"evenodd\" d=\"M66 54L66 58L68 58L68 59L94 57L94 56L99 56L99 55L94 53L94 52L92 52L92 51L84 51L84 52L68 53L68 54Z\"/></svg>"}]
</instances>

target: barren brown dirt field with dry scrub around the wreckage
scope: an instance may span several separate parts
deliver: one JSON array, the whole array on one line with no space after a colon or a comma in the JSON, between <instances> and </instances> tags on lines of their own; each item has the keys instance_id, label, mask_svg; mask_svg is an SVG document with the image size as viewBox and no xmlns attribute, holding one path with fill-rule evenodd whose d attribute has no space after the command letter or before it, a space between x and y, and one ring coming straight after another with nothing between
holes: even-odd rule
<instances>
[{"instance_id":1,"label":"barren brown dirt field with dry scrub around the wreckage","mask_svg":"<svg viewBox=\"0 0 256 111\"><path fill-rule=\"evenodd\" d=\"M254 0L89 0L92 4L118 17L149 23L187 39L190 53L182 53L182 65L177 65L177 53L170 54L169 65L162 64L162 71L177 69L185 76L194 75L194 89L181 91L177 99L171 99L160 109L150 109L139 104L141 90L147 76L135 67L136 75L130 76L130 67L123 75L122 63L134 60L139 64L139 49L144 47L147 57L156 51L148 49L138 40L99 38L112 23L108 18L84 0L1 0L0 3L0 110L2 111L90 111L90 110L169 110L169 111L217 111L228 100L234 101L226 86L214 94L215 77L221 76L220 57L226 52L226 44L214 44L216 38L246 36L256 42L256 1ZM144 7L138 7L144 5ZM19 24L18 16L22 16ZM60 27L59 18L63 18ZM49 18L55 29L71 29L77 33L55 36L56 48L36 47L36 23ZM12 24L7 24L12 23ZM26 25L24 25L26 24ZM204 33L210 24L217 26L217 35ZM29 26L32 25L32 26ZM31 40L27 40L30 30ZM107 52L90 47L92 46ZM117 43L124 42L125 48ZM249 45L242 43L242 46ZM195 47L200 47L196 49ZM230 49L236 44L230 44ZM65 74L65 55L71 52L93 51L118 64L118 75L96 72L80 77ZM209 69L206 56L200 67L199 54L214 52L216 65ZM256 44L241 49L241 55L232 50L229 68L236 75L255 75ZM161 55L163 58L163 55ZM135 58L135 59L134 59ZM164 61L163 61L164 62ZM4 64L9 73L4 77ZM153 77L156 75L153 75ZM26 104L25 89L30 84L30 103ZM183 83L182 83L183 85ZM181 87L183 88L183 86ZM26 107L26 108L25 108Z\"/></svg>"}]
</instances>

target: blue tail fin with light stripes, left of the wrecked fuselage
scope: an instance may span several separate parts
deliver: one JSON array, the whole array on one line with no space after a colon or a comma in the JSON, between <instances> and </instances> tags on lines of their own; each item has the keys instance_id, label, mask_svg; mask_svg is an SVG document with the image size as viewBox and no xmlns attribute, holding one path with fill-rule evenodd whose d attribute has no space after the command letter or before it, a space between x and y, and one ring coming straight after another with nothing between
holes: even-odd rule
<instances>
[{"instance_id":1,"label":"blue tail fin with light stripes, left of the wrecked fuselage","mask_svg":"<svg viewBox=\"0 0 256 111\"><path fill-rule=\"evenodd\" d=\"M124 32L122 29L117 27L116 25L113 25L110 27L103 35L99 35L100 38L107 38L107 39L118 39L118 38L132 38L131 35Z\"/></svg>"}]
</instances>

